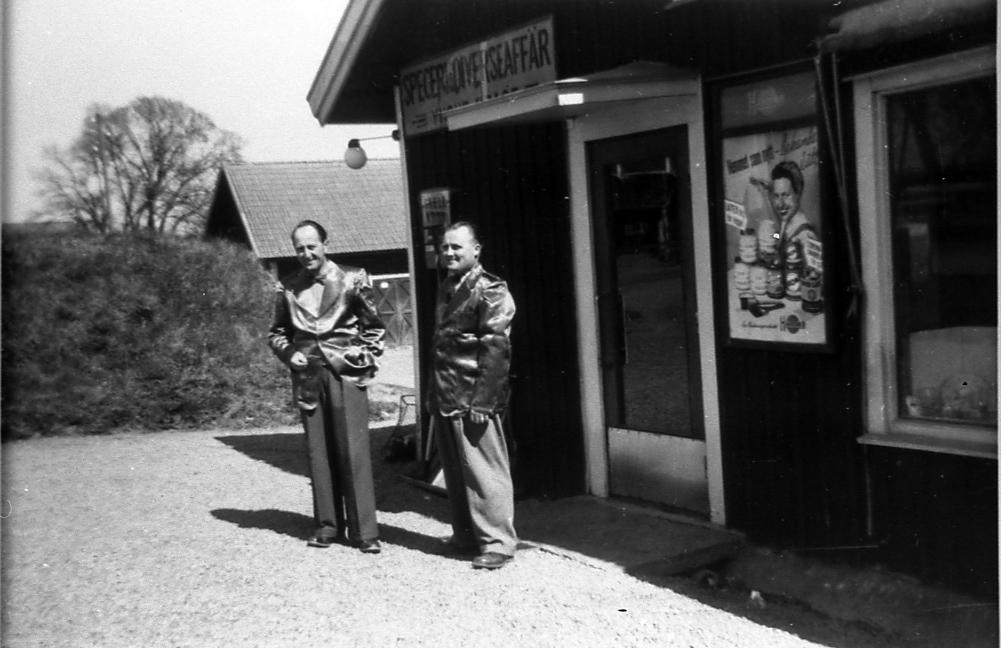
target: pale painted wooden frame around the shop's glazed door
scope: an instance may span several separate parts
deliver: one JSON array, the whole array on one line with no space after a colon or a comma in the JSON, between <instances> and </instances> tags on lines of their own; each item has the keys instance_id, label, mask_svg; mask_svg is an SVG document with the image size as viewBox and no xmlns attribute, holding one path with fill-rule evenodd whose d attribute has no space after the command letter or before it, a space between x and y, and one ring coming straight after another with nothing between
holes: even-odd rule
<instances>
[{"instance_id":1,"label":"pale painted wooden frame around the shop's glazed door","mask_svg":"<svg viewBox=\"0 0 1001 648\"><path fill-rule=\"evenodd\" d=\"M591 222L591 187L587 143L670 126L688 127L689 174L693 255L696 267L696 320L702 376L702 412L705 430L706 479L710 521L726 524L723 498L723 461L720 446L720 412L716 373L716 329L710 258L709 199L706 175L706 139L702 113L702 84L679 95L622 102L596 109L567 121L567 158L570 166L571 228L574 248L574 281L577 291L578 362L581 371L581 417L584 425L588 490L609 496L608 430L602 392L602 371L597 308L595 241Z\"/></svg>"}]
</instances>

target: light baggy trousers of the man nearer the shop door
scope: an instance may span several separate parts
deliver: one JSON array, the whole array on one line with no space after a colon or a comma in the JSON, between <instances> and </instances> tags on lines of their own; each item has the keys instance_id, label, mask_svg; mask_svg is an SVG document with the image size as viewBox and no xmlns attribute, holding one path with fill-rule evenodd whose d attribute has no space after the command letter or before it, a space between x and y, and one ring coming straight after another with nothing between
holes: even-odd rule
<instances>
[{"instance_id":1,"label":"light baggy trousers of the man nearer the shop door","mask_svg":"<svg viewBox=\"0 0 1001 648\"><path fill-rule=\"evenodd\" d=\"M452 540L482 553L514 556L515 488L500 418L434 417L441 469L451 506Z\"/></svg>"}]
</instances>

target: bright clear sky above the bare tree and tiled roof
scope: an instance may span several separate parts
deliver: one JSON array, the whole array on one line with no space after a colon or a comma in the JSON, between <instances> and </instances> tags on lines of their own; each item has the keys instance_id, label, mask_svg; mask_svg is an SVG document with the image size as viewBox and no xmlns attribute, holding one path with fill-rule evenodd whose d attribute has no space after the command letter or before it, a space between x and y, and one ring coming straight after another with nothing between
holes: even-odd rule
<instances>
[{"instance_id":1,"label":"bright clear sky above the bare tree and tiled roof","mask_svg":"<svg viewBox=\"0 0 1001 648\"><path fill-rule=\"evenodd\" d=\"M176 99L244 140L248 162L341 159L351 137L391 125L329 125L306 93L347 0L0 0L3 220L39 205L42 150L69 146L92 103ZM363 142L398 157L392 139Z\"/></svg>"}]
</instances>

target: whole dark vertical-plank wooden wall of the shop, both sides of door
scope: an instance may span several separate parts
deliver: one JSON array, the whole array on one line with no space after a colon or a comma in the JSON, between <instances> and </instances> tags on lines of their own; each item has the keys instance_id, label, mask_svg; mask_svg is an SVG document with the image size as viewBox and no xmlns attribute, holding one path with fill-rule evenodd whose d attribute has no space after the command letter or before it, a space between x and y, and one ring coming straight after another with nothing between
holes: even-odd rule
<instances>
[{"instance_id":1,"label":"whole dark vertical-plank wooden wall of the shop, both sides of door","mask_svg":"<svg viewBox=\"0 0 1001 648\"><path fill-rule=\"evenodd\" d=\"M864 4L705 0L667 9L664 0L393 2L400 15L412 20L378 29L395 30L390 41L412 42L411 61L553 14L560 77L638 59L699 70L706 81L710 169L719 167L713 88L763 68L797 62L809 66L814 41L831 18L828 12ZM992 42L993 28L968 36L957 40L947 34L917 46L881 47L859 58L862 67L870 68L913 60L976 45L978 38ZM850 117L850 87L842 89ZM853 555L854 547L854 555L863 559L881 558L926 578L961 587L995 583L996 588L996 462L867 450L857 442L865 432L863 350L860 323L846 310L848 237L856 237L856 248L859 241L839 220L820 115L818 126L822 168L828 174L822 191L830 224L825 248L832 258L827 277L832 349L809 354L726 347L725 322L717 321L728 525L772 546L838 556ZM850 144L851 124L847 132ZM512 408L519 445L516 481L523 493L544 496L584 490L564 148L557 124L433 133L407 142L413 212L419 213L419 189L455 189L453 217L481 227L483 263L509 279L519 302ZM852 178L851 150L848 155ZM713 173L709 179L711 210L697 217L722 222L717 179ZM848 202L854 204L851 181L849 192ZM848 214L852 232L858 230L857 219L853 209ZM414 236L420 240L419 231ZM722 231L714 231L715 267L723 244ZM422 258L421 249L414 252ZM725 289L722 274L716 274L719 299ZM432 271L418 270L415 291L425 343L434 281ZM824 553L832 548L840 549ZM978 580L984 573L989 578Z\"/></svg>"}]
</instances>

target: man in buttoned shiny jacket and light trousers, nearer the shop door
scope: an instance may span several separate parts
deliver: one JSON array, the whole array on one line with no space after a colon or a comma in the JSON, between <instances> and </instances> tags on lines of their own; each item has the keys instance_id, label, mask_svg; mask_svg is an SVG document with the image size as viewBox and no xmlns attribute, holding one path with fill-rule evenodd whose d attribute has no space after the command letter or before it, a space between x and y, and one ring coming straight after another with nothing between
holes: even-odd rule
<instances>
[{"instance_id":1,"label":"man in buttoned shiny jacket and light trousers, nearer the shop door","mask_svg":"<svg viewBox=\"0 0 1001 648\"><path fill-rule=\"evenodd\" d=\"M515 497L500 426L508 404L511 321L508 284L479 265L480 244L464 221L445 229L447 276L437 293L427 411L451 505L450 551L476 552L472 566L504 567L515 556Z\"/></svg>"}]
</instances>

